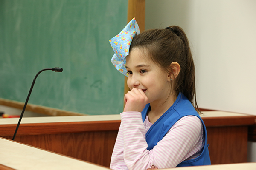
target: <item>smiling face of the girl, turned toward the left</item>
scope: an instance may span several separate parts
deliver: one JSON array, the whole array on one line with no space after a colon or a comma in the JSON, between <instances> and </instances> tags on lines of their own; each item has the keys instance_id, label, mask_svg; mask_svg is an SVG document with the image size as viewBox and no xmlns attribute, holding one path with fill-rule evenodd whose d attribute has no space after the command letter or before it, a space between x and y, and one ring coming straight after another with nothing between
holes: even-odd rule
<instances>
[{"instance_id":1,"label":"smiling face of the girl, turned toward the left","mask_svg":"<svg viewBox=\"0 0 256 170\"><path fill-rule=\"evenodd\" d=\"M126 57L128 71L127 84L130 89L142 89L148 97L148 103L162 104L170 94L170 76L163 71L145 53L134 48Z\"/></svg>"}]
</instances>

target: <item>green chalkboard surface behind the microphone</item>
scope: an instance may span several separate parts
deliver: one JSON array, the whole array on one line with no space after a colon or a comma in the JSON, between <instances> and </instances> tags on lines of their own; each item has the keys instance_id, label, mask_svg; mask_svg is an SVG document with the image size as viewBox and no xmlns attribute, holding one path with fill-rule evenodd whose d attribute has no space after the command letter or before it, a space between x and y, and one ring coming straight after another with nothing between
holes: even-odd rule
<instances>
[{"instance_id":1,"label":"green chalkboard surface behind the microphone","mask_svg":"<svg viewBox=\"0 0 256 170\"><path fill-rule=\"evenodd\" d=\"M119 114L124 76L108 42L127 23L128 0L0 0L0 98L66 111Z\"/></svg>"}]
</instances>

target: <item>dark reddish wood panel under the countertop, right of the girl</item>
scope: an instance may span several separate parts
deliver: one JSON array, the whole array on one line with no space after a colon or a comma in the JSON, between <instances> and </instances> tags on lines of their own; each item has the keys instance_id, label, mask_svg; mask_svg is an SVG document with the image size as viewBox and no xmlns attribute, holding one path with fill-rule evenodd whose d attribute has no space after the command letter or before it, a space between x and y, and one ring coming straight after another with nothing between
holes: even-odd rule
<instances>
[{"instance_id":1,"label":"dark reddish wood panel under the countertop, right of the girl","mask_svg":"<svg viewBox=\"0 0 256 170\"><path fill-rule=\"evenodd\" d=\"M247 126L207 127L212 164L247 162Z\"/></svg>"}]
</instances>

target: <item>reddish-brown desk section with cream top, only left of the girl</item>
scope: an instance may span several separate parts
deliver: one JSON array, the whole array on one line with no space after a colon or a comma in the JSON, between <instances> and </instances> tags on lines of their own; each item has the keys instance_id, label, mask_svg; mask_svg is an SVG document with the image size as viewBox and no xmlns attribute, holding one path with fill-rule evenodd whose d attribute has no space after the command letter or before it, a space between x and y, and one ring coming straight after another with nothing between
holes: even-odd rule
<instances>
[{"instance_id":1,"label":"reddish-brown desk section with cream top, only left of the girl","mask_svg":"<svg viewBox=\"0 0 256 170\"><path fill-rule=\"evenodd\" d=\"M18 118L0 119L0 136L12 139ZM109 167L119 115L23 118L15 141Z\"/></svg>"}]
</instances>

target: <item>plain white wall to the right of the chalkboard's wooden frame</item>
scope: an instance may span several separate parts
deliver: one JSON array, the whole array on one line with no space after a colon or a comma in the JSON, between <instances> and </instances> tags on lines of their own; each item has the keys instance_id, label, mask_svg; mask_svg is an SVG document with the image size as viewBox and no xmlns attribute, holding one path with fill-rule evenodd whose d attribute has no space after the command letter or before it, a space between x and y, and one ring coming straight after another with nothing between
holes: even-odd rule
<instances>
[{"instance_id":1,"label":"plain white wall to the right of the chalkboard's wooden frame","mask_svg":"<svg viewBox=\"0 0 256 170\"><path fill-rule=\"evenodd\" d=\"M186 32L200 108L256 115L256 0L146 0L145 12L145 29ZM255 153L248 142L248 161Z\"/></svg>"}]
</instances>

